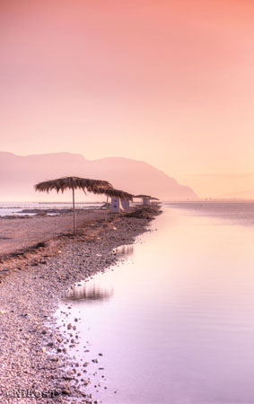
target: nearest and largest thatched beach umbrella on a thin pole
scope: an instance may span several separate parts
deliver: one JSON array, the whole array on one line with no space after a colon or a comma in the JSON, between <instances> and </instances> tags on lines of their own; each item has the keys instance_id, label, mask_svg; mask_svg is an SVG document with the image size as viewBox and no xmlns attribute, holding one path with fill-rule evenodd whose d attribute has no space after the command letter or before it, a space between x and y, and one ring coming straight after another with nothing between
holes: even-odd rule
<instances>
[{"instance_id":1,"label":"nearest and largest thatched beach umbrella on a thin pole","mask_svg":"<svg viewBox=\"0 0 254 404\"><path fill-rule=\"evenodd\" d=\"M85 178L79 177L63 177L58 178L57 180L49 180L45 182L39 182L39 184L35 185L35 190L40 192L49 192L53 189L64 192L66 189L73 190L73 209L74 209L74 234L76 233L76 225L75 225L75 200L74 200L74 189L82 189L84 193L86 191L96 193L96 189L100 187L101 193L102 189L111 188L111 184L108 181L104 180L89 180Z\"/></svg>"}]
</instances>

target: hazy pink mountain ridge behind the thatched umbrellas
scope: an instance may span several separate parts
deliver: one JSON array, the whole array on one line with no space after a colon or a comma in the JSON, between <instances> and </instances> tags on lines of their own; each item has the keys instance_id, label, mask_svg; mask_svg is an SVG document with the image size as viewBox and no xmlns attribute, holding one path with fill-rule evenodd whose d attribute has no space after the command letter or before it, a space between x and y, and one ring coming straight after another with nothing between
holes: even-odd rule
<instances>
[{"instance_id":1,"label":"hazy pink mountain ridge behind the thatched umbrellas","mask_svg":"<svg viewBox=\"0 0 254 404\"><path fill-rule=\"evenodd\" d=\"M122 157L86 160L82 154L54 153L19 156L0 152L0 200L58 200L55 193L35 193L33 185L65 175L109 180L117 189L153 195L162 200L196 199L195 192L180 185L151 164ZM68 197L65 195L65 199ZM91 198L90 198L91 199ZM92 199L94 197L92 196Z\"/></svg>"}]
</instances>

